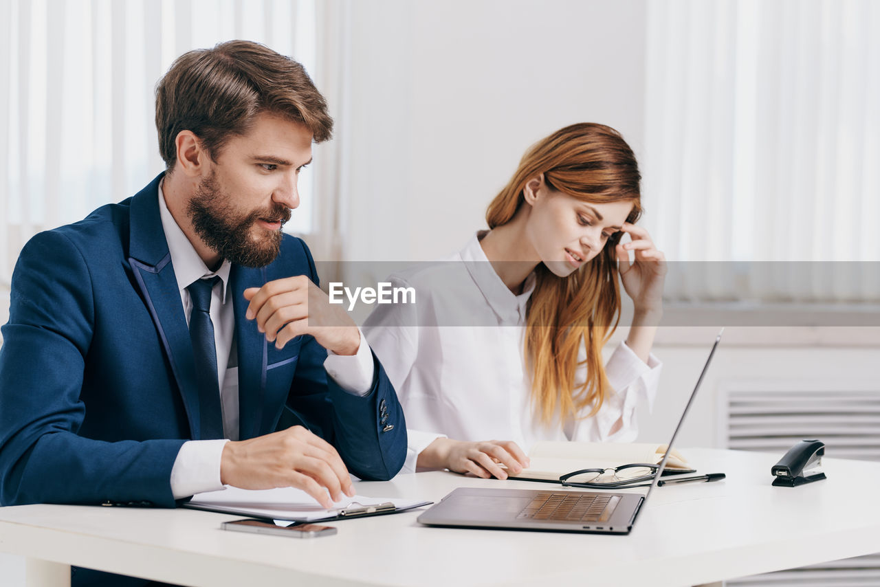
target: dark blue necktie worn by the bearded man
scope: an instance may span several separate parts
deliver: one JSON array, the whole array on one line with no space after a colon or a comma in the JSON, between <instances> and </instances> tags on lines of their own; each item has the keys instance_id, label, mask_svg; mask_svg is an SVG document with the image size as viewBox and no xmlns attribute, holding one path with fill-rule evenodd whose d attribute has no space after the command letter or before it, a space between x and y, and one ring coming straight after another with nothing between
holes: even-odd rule
<instances>
[{"instance_id":1,"label":"dark blue necktie worn by the bearded man","mask_svg":"<svg viewBox=\"0 0 880 587\"><path fill-rule=\"evenodd\" d=\"M211 290L220 281L199 279L190 283L189 297L193 311L189 315L189 338L193 341L195 378L199 384L199 415L202 439L223 438L223 415L220 411L220 388L217 385L217 354L214 323L211 322Z\"/></svg>"}]
</instances>

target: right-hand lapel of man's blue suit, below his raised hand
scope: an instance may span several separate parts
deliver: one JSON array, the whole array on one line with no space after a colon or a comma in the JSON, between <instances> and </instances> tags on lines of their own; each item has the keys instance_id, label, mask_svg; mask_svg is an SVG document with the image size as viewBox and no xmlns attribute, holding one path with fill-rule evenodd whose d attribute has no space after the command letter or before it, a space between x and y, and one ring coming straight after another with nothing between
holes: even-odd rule
<instances>
[{"instance_id":1,"label":"right-hand lapel of man's blue suit, below his raised hand","mask_svg":"<svg viewBox=\"0 0 880 587\"><path fill-rule=\"evenodd\" d=\"M263 430L263 396L266 393L266 337L257 330L254 320L245 318L247 300L244 291L261 287L266 269L248 269L233 265L230 272L232 307L235 312L235 336L238 352L238 438L258 437Z\"/></svg>"}]
</instances>

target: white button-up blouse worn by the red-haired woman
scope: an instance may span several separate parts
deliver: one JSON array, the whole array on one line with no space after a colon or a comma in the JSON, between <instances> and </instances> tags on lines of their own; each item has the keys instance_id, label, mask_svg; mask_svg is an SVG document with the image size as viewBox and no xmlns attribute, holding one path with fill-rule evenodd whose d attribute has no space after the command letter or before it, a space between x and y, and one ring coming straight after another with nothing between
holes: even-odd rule
<instances>
[{"instance_id":1,"label":"white button-up blouse worn by the red-haired woman","mask_svg":"<svg viewBox=\"0 0 880 587\"><path fill-rule=\"evenodd\" d=\"M363 334L397 390L407 420L407 460L437 437L512 440L528 452L539 440L630 442L638 434L635 407L653 407L662 364L645 364L621 342L605 364L612 386L598 414L579 421L542 423L532 406L524 363L523 293L504 285L475 234L450 260L391 275L393 287L415 290L415 304L378 305ZM582 349L579 360L586 357ZM582 368L583 370L583 368ZM585 370L576 375L583 384ZM622 419L623 426L610 431Z\"/></svg>"}]
</instances>

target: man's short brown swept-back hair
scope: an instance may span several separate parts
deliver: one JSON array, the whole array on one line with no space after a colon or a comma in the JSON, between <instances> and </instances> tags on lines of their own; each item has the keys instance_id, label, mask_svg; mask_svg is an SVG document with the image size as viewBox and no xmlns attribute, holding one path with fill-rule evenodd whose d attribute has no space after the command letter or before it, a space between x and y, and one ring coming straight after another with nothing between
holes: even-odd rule
<instances>
[{"instance_id":1,"label":"man's short brown swept-back hair","mask_svg":"<svg viewBox=\"0 0 880 587\"><path fill-rule=\"evenodd\" d=\"M159 154L171 171L181 130L199 137L216 159L232 136L270 112L304 124L316 143L330 138L326 100L301 64L260 43L229 40L177 58L156 86Z\"/></svg>"}]
</instances>

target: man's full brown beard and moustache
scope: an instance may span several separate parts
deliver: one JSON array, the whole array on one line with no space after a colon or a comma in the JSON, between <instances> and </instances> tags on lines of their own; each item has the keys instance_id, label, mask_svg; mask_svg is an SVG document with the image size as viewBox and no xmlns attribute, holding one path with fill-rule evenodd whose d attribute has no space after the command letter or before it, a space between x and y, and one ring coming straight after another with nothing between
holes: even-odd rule
<instances>
[{"instance_id":1,"label":"man's full brown beard and moustache","mask_svg":"<svg viewBox=\"0 0 880 587\"><path fill-rule=\"evenodd\" d=\"M282 231L266 231L264 238L252 238L251 228L260 219L268 222L290 220L290 209L275 203L268 210L242 216L232 206L233 196L217 187L214 172L203 178L187 206L196 234L216 253L245 267L265 267L281 250Z\"/></svg>"}]
</instances>

